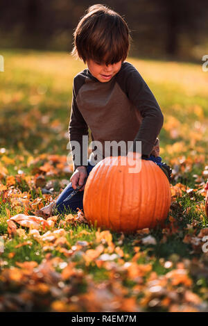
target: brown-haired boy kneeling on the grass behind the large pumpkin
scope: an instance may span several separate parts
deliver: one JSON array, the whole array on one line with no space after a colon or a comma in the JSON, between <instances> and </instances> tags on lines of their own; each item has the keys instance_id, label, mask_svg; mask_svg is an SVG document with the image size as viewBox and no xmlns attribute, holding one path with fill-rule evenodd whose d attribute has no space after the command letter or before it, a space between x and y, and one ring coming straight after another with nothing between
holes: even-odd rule
<instances>
[{"instance_id":1,"label":"brown-haired boy kneeling on the grass behind the large pumpkin","mask_svg":"<svg viewBox=\"0 0 208 326\"><path fill-rule=\"evenodd\" d=\"M105 158L106 141L132 140L130 152L137 152L136 141L140 140L141 158L157 163L171 181L171 168L161 162L157 138L164 116L137 69L125 61L130 39L124 19L101 4L89 7L76 27L71 54L87 63L87 69L73 79L69 138L71 151L74 141L80 145L80 157L73 157L71 183L56 201L59 213L83 209L84 180L95 162ZM83 154L83 136L88 136L88 128L92 140L103 145L89 159L87 149ZM77 186L82 188L64 202Z\"/></svg>"}]
</instances>

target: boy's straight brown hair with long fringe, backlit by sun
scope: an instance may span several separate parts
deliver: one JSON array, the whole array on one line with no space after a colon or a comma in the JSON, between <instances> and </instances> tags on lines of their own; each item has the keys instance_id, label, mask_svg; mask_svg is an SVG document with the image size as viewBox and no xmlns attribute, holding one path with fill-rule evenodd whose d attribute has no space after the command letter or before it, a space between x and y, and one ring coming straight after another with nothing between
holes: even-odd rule
<instances>
[{"instance_id":1,"label":"boy's straight brown hair with long fringe, backlit by sun","mask_svg":"<svg viewBox=\"0 0 208 326\"><path fill-rule=\"evenodd\" d=\"M121 15L107 6L90 6L73 33L71 55L106 65L123 62L130 49L130 30Z\"/></svg>"}]
</instances>

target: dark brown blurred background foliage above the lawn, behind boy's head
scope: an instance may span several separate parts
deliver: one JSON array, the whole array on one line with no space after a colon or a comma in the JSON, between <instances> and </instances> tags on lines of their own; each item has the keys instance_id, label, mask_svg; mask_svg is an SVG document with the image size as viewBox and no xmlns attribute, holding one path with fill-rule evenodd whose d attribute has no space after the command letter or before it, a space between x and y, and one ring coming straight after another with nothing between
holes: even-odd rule
<instances>
[{"instance_id":1,"label":"dark brown blurred background foliage above the lawn, behind boy's head","mask_svg":"<svg viewBox=\"0 0 208 326\"><path fill-rule=\"evenodd\" d=\"M95 3L99 1L0 1L0 49L71 51L78 19ZM128 22L133 39L130 56L202 60L206 54L205 0L113 0L103 4Z\"/></svg>"}]
</instances>

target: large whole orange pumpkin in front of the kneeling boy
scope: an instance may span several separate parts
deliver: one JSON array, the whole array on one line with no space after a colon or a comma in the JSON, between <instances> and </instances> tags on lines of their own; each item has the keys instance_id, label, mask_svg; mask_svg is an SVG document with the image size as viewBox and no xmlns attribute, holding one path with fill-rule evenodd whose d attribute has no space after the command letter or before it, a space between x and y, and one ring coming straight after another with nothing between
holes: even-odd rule
<instances>
[{"instance_id":1,"label":"large whole orange pumpkin in front of the kneeling boy","mask_svg":"<svg viewBox=\"0 0 208 326\"><path fill-rule=\"evenodd\" d=\"M135 158L109 156L95 165L85 184L85 218L97 227L132 232L166 220L171 188L162 170L141 160L141 171L130 173Z\"/></svg>"}]
</instances>

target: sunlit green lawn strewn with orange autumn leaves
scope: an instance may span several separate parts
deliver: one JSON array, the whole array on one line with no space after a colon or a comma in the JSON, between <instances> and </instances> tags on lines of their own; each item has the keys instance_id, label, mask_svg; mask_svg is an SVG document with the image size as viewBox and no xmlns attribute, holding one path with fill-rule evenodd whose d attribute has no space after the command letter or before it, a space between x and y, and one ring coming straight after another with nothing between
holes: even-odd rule
<instances>
[{"instance_id":1,"label":"sunlit green lawn strewn with orange autumn leaves","mask_svg":"<svg viewBox=\"0 0 208 326\"><path fill-rule=\"evenodd\" d=\"M0 54L0 311L208 311L202 252L208 79L202 65L127 59L164 113L160 156L173 169L167 228L111 236L69 212L56 216L51 233L62 231L50 240L46 229L36 238L24 227L8 234L6 220L34 215L69 182L71 88L85 65L67 53ZM146 236L155 244L144 244ZM6 293L15 295L1 305Z\"/></svg>"}]
</instances>

